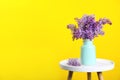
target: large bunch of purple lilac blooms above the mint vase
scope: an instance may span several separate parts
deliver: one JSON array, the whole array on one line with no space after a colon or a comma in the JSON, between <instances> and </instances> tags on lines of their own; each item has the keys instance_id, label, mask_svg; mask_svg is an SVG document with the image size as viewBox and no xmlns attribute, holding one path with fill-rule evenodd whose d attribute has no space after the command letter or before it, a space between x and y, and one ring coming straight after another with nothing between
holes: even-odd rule
<instances>
[{"instance_id":1,"label":"large bunch of purple lilac blooms above the mint vase","mask_svg":"<svg viewBox=\"0 0 120 80\"><path fill-rule=\"evenodd\" d=\"M75 21L78 27L74 24L67 25L67 28L72 31L73 40L80 38L92 40L98 35L104 35L104 31L102 31L103 25L112 25L112 22L107 18L101 18L95 21L94 15L83 15L82 18L75 18Z\"/></svg>"}]
</instances>

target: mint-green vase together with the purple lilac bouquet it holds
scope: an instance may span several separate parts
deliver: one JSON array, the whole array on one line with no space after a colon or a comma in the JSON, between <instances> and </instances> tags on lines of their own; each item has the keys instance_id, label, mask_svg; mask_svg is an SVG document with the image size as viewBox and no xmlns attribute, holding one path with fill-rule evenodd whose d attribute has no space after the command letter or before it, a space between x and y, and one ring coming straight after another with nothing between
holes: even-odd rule
<instances>
[{"instance_id":1,"label":"mint-green vase together with the purple lilac bouquet it holds","mask_svg":"<svg viewBox=\"0 0 120 80\"><path fill-rule=\"evenodd\" d=\"M96 21L94 15L83 15L82 18L75 18L75 21L78 27L74 24L68 24L67 28L72 31L73 40L83 39L81 64L94 65L96 63L96 49L92 40L98 35L104 35L103 25L112 25L112 22L107 18L100 18Z\"/></svg>"}]
</instances>

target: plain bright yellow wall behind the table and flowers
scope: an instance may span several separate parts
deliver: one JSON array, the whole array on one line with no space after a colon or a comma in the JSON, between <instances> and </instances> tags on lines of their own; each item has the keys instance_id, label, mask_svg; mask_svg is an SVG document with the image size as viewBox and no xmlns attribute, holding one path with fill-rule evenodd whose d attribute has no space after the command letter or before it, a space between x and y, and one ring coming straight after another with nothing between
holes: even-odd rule
<instances>
[{"instance_id":1,"label":"plain bright yellow wall behind the table and flowers","mask_svg":"<svg viewBox=\"0 0 120 80\"><path fill-rule=\"evenodd\" d=\"M97 57L115 62L104 79L120 80L119 0L0 0L0 80L66 80L59 62L79 57L82 45L72 41L66 25L83 14L112 21L94 44ZM76 72L73 80L78 79L85 80L86 73Z\"/></svg>"}]
</instances>

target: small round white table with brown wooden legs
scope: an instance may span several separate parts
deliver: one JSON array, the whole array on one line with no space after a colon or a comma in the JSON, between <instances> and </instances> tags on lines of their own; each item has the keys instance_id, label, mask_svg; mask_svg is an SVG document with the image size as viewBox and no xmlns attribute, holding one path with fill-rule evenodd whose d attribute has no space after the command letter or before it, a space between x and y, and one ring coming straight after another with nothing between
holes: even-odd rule
<instances>
[{"instance_id":1,"label":"small round white table with brown wooden legs","mask_svg":"<svg viewBox=\"0 0 120 80\"><path fill-rule=\"evenodd\" d=\"M80 61L80 60L79 60ZM96 65L93 66L71 66L68 65L68 59L60 62L62 69L68 70L68 80L72 79L73 72L87 72L87 79L91 80L91 72L97 72L98 79L103 80L102 71L112 70L114 68L114 62L106 59L97 59Z\"/></svg>"}]
</instances>

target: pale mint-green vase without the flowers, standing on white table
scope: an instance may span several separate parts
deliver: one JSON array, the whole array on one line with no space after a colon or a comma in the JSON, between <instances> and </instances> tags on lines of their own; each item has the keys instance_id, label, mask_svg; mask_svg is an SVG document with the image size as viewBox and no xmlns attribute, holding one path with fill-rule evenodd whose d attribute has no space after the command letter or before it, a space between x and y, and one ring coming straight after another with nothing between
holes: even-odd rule
<instances>
[{"instance_id":1,"label":"pale mint-green vase without the flowers, standing on white table","mask_svg":"<svg viewBox=\"0 0 120 80\"><path fill-rule=\"evenodd\" d=\"M83 45L81 46L81 64L86 66L96 64L96 49L92 40L83 40Z\"/></svg>"}]
</instances>

